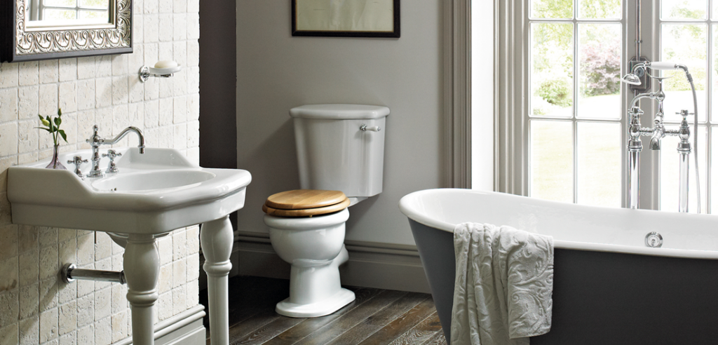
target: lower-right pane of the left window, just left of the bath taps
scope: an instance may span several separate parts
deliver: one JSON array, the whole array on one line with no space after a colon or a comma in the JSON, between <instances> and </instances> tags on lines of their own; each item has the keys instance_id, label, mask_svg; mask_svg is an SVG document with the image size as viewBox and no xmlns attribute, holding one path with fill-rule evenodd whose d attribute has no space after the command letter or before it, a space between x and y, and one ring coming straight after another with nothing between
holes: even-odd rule
<instances>
[{"instance_id":1,"label":"lower-right pane of the left window, just left of the bath taps","mask_svg":"<svg viewBox=\"0 0 718 345\"><path fill-rule=\"evenodd\" d=\"M578 203L621 207L621 126L579 122Z\"/></svg>"}]
</instances>

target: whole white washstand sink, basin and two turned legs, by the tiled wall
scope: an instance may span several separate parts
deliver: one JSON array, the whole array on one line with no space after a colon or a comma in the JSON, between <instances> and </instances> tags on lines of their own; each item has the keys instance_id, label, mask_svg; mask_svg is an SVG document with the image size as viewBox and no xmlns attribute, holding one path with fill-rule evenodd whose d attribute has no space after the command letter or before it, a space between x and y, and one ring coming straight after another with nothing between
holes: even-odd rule
<instances>
[{"instance_id":1,"label":"whole white washstand sink, basin and two turned legs, by the tiled wall","mask_svg":"<svg viewBox=\"0 0 718 345\"><path fill-rule=\"evenodd\" d=\"M115 159L119 172L103 178L83 179L72 170L45 169L49 160L10 167L7 197L13 223L106 231L126 238L123 266L136 345L154 344L157 237L202 224L212 344L228 344L227 276L233 244L228 216L244 206L250 173L197 167L174 149L115 151L120 154ZM67 152L60 161L90 155L90 150ZM109 159L100 164L108 166ZM80 168L83 175L89 170L89 164Z\"/></svg>"}]
</instances>

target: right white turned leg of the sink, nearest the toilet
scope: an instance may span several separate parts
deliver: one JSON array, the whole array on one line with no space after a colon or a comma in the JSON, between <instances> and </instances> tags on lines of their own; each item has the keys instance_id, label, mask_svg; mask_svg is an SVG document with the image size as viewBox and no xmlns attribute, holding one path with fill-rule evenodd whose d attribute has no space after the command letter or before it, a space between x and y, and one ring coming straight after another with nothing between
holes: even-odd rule
<instances>
[{"instance_id":1,"label":"right white turned leg of the sink, nearest the toilet","mask_svg":"<svg viewBox=\"0 0 718 345\"><path fill-rule=\"evenodd\" d=\"M200 232L202 253L205 254L207 292L210 309L210 338L212 345L229 344L229 305L227 277L232 269L234 233L229 216L202 224Z\"/></svg>"}]
</instances>

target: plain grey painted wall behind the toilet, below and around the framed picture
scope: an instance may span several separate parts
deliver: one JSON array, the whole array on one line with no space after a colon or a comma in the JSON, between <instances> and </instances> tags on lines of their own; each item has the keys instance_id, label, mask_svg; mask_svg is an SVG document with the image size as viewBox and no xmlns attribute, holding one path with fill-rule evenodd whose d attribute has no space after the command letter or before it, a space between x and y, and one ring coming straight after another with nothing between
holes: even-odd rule
<instances>
[{"instance_id":1,"label":"plain grey painted wall behind the toilet, below and around the framed picture","mask_svg":"<svg viewBox=\"0 0 718 345\"><path fill-rule=\"evenodd\" d=\"M413 245L398 201L442 183L441 2L402 1L398 39L292 37L290 11L237 1L237 164L253 175L238 230L266 232L266 197L299 188L289 109L364 103L391 109L384 186L350 208L346 238Z\"/></svg>"}]
</instances>

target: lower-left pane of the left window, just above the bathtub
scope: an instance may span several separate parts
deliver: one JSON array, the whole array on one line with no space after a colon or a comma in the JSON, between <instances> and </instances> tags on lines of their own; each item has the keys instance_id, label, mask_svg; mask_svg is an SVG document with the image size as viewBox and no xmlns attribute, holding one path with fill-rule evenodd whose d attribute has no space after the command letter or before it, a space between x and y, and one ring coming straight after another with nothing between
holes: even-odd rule
<instances>
[{"instance_id":1,"label":"lower-left pane of the left window, just above the bathtub","mask_svg":"<svg viewBox=\"0 0 718 345\"><path fill-rule=\"evenodd\" d=\"M574 145L569 121L529 123L531 135L530 196L574 201Z\"/></svg>"}]
</instances>

